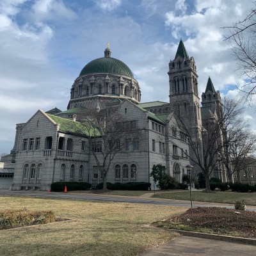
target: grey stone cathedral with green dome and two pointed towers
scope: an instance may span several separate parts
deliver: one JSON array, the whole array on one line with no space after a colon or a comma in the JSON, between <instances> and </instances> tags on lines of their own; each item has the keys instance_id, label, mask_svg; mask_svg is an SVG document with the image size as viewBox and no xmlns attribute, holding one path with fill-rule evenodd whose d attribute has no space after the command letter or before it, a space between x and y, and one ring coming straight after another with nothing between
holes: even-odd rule
<instances>
[{"instance_id":1,"label":"grey stone cathedral with green dome and two pointed towers","mask_svg":"<svg viewBox=\"0 0 256 256\"><path fill-rule=\"evenodd\" d=\"M181 113L193 136L202 141L202 109L218 115L220 92L209 78L200 108L195 60L189 58L182 40L169 63L168 76L170 102L142 103L141 88L131 69L113 58L109 47L105 49L104 57L86 64L72 84L67 110L38 110L27 122L17 124L13 150L1 159L5 164L13 163L10 189L47 191L56 181L102 182L90 151L99 154L100 159L102 146L90 150L84 147L90 134L84 130L83 121L86 110L100 111L106 100L118 106L120 115L140 131L111 161L108 182L143 181L153 185L150 172L154 164L163 164L168 174L182 182L189 164L187 156L192 153L185 134L177 129L173 109ZM220 175L218 170L216 173Z\"/></svg>"}]
</instances>

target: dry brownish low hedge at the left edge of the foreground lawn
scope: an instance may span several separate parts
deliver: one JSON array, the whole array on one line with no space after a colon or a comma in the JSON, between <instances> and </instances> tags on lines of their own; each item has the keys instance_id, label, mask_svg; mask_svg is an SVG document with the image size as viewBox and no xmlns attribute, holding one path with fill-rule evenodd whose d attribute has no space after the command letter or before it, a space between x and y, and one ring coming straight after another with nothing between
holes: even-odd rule
<instances>
[{"instance_id":1,"label":"dry brownish low hedge at the left edge of the foreground lawn","mask_svg":"<svg viewBox=\"0 0 256 256\"><path fill-rule=\"evenodd\" d=\"M55 221L52 211L1 211L0 229L23 227L28 225L45 224Z\"/></svg>"}]
</instances>

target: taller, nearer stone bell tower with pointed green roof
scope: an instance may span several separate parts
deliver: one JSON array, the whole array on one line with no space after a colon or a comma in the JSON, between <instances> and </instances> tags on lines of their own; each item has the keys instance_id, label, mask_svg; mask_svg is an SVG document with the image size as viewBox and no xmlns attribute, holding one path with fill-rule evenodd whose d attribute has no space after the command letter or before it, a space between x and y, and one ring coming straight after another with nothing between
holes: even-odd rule
<instances>
[{"instance_id":1,"label":"taller, nearer stone bell tower with pointed green roof","mask_svg":"<svg viewBox=\"0 0 256 256\"><path fill-rule=\"evenodd\" d=\"M169 63L170 108L186 125L190 137L198 146L199 157L202 158L202 119L200 98L198 95L198 75L193 57L188 56L186 48L180 40L174 60ZM189 147L189 154L193 157L193 150ZM191 161L195 166L195 163ZM200 169L195 166L193 172Z\"/></svg>"}]
</instances>

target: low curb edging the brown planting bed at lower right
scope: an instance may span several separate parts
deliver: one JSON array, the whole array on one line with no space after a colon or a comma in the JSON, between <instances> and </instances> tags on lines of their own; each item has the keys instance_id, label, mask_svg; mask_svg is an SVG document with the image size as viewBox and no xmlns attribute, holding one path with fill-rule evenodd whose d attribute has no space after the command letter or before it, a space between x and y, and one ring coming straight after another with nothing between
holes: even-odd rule
<instances>
[{"instance_id":1,"label":"low curb edging the brown planting bed at lower right","mask_svg":"<svg viewBox=\"0 0 256 256\"><path fill-rule=\"evenodd\" d=\"M176 230L176 229L167 229L167 230L178 232L179 234L182 234L182 236L191 236L191 237L219 240L219 241L225 241L230 243L256 245L256 239L251 239L251 238L205 234L200 232L192 232L192 231L184 231L184 230Z\"/></svg>"}]
</instances>

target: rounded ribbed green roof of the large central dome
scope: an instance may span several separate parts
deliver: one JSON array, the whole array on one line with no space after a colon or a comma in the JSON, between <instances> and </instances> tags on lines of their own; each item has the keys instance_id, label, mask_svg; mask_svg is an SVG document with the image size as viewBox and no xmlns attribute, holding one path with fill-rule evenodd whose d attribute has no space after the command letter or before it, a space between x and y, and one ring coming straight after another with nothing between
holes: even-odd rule
<instances>
[{"instance_id":1,"label":"rounded ribbed green roof of the large central dome","mask_svg":"<svg viewBox=\"0 0 256 256\"><path fill-rule=\"evenodd\" d=\"M109 73L129 76L134 78L131 69L124 62L115 58L98 58L84 66L79 76L91 73Z\"/></svg>"}]
</instances>

